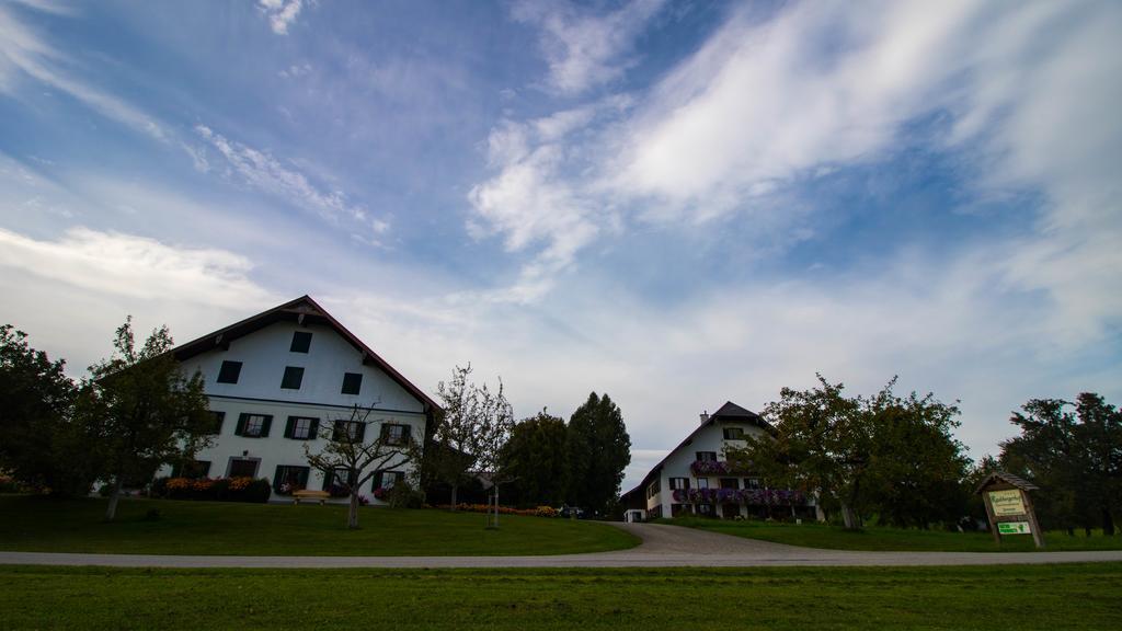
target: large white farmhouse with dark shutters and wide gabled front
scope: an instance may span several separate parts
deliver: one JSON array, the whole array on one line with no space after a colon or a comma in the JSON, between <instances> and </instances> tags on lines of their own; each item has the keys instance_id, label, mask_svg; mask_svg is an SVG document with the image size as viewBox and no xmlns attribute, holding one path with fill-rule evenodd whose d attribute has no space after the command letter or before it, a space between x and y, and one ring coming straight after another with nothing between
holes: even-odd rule
<instances>
[{"instance_id":1,"label":"large white farmhouse with dark shutters and wide gabled front","mask_svg":"<svg viewBox=\"0 0 1122 631\"><path fill-rule=\"evenodd\" d=\"M346 482L311 470L304 445L319 451L330 432L346 431L356 405L370 412L362 431L401 441L423 441L440 409L306 295L173 353L187 374L202 373L215 428L214 445L174 473L265 477L272 500ZM411 466L380 472L358 492L377 503L374 490L390 487Z\"/></svg>"}]
</instances>

